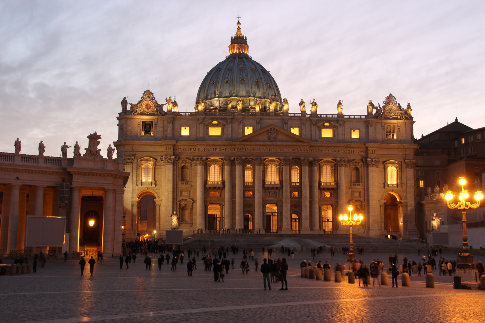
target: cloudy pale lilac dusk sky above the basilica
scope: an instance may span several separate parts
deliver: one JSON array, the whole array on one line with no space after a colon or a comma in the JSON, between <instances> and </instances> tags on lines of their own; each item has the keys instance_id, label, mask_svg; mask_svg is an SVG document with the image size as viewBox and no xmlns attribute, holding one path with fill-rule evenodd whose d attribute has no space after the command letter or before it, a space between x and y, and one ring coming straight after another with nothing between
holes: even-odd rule
<instances>
[{"instance_id":1,"label":"cloudy pale lilac dusk sky above the basilica","mask_svg":"<svg viewBox=\"0 0 485 323\"><path fill-rule=\"evenodd\" d=\"M93 130L117 139L123 96L149 88L194 111L202 79L228 55L237 16L249 55L290 112L366 114L390 93L413 109L414 135L454 121L485 126L485 1L0 2L0 152L60 156ZM68 156L71 156L72 148Z\"/></svg>"}]
</instances>

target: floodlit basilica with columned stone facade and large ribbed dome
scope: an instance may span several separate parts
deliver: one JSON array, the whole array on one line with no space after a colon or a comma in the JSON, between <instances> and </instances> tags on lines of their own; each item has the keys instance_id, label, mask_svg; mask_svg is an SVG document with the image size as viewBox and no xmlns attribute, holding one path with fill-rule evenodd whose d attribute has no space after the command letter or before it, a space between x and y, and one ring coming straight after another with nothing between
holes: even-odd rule
<instances>
[{"instance_id":1,"label":"floodlit basilica with columned stone facade and large ribbed dome","mask_svg":"<svg viewBox=\"0 0 485 323\"><path fill-rule=\"evenodd\" d=\"M336 233L347 206L370 237L418 236L411 109L389 94L363 115L288 112L267 69L248 55L240 24L229 55L204 77L194 112L146 90L122 102L114 143L130 173L125 238L164 234L173 211L186 234L220 230ZM307 105L307 107L306 107Z\"/></svg>"}]
</instances>

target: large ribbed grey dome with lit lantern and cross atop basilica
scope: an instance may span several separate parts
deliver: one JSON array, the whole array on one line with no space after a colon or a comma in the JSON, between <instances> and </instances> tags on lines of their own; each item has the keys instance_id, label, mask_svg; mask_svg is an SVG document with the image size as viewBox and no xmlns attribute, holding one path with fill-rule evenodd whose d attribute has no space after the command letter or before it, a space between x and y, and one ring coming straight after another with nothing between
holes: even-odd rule
<instances>
[{"instance_id":1,"label":"large ribbed grey dome with lit lantern and cross atop basilica","mask_svg":"<svg viewBox=\"0 0 485 323\"><path fill-rule=\"evenodd\" d=\"M240 98L243 100L244 110L254 106L256 98L260 99L263 108L269 106L272 95L277 103L281 103L281 94L275 79L268 70L248 55L249 46L239 26L238 21L238 28L236 34L231 37L226 60L215 65L200 84L195 99L196 110L202 110L202 103L203 110L225 110L228 107L228 99L231 99L235 107Z\"/></svg>"}]
</instances>

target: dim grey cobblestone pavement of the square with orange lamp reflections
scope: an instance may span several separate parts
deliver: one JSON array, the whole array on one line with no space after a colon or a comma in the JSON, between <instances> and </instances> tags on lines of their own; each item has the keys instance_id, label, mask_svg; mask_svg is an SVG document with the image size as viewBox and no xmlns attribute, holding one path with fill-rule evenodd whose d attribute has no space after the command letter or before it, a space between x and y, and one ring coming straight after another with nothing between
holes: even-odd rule
<instances>
[{"instance_id":1,"label":"dim grey cobblestone pavement of the square with orange lamp reflections","mask_svg":"<svg viewBox=\"0 0 485 323\"><path fill-rule=\"evenodd\" d=\"M236 263L241 262L240 255L234 256ZM152 254L154 262L156 256ZM273 253L273 258L280 256ZM324 254L316 259L328 260L332 266L342 262L339 258L345 259L338 253L335 256L332 259ZM357 256L369 262L386 255ZM255 257L262 262L260 252ZM224 282L214 282L212 272L205 271L201 261L193 276L187 277L186 262L178 264L174 272L166 264L160 271L157 265L146 270L140 258L130 263L129 269L120 269L116 258L105 258L95 265L92 277L88 266L81 277L78 261L52 260L34 274L0 277L0 321L485 322L485 292L453 290L453 277L439 277L435 271L436 288L425 288L424 276L417 275L411 276L411 287L370 284L364 288L349 284L345 276L341 283L301 278L299 263L308 257L308 253L301 253L289 260L288 291L280 291L277 283L271 291L263 290L262 275L254 270L252 261L247 275L235 264L236 269L229 270ZM399 255L399 260L403 258Z\"/></svg>"}]
</instances>

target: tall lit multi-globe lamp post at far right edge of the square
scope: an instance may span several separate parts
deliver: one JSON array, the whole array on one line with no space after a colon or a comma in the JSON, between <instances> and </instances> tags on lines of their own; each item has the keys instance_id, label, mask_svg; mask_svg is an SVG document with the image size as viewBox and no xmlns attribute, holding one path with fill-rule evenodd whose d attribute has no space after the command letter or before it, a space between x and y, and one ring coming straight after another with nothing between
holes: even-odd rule
<instances>
[{"instance_id":1,"label":"tall lit multi-globe lamp post at far right edge of the square","mask_svg":"<svg viewBox=\"0 0 485 323\"><path fill-rule=\"evenodd\" d=\"M476 200L476 203L471 204L470 202L467 202L467 199L469 198L468 191L463 187L465 184L467 184L467 181L465 180L465 177L461 176L460 180L458 183L461 185L461 192L458 195L458 203L451 203L450 201L453 199L455 196L452 191L448 190L445 195L445 200L448 202L448 207L450 209L458 209L461 210L462 214L462 223L463 223L463 253L458 254L458 264L457 268L460 269L474 269L473 265L473 254L470 254L470 248L468 246L468 234L467 234L467 217L466 213L468 209L476 209L480 206L480 200L484 198L482 191L477 190L475 192L474 199Z\"/></svg>"}]
</instances>

